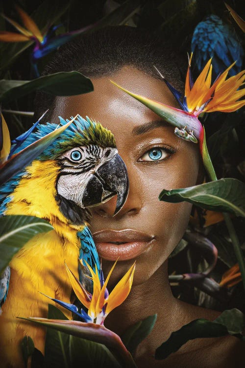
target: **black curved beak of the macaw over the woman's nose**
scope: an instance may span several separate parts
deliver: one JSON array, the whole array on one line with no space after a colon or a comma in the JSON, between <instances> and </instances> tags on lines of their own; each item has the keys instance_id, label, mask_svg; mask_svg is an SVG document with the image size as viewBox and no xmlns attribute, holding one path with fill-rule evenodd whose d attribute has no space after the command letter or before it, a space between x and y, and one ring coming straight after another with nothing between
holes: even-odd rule
<instances>
[{"instance_id":1,"label":"black curved beak of the macaw over the woman's nose","mask_svg":"<svg viewBox=\"0 0 245 368\"><path fill-rule=\"evenodd\" d=\"M126 165L117 154L93 174L84 190L82 203L84 207L98 206L117 194L115 216L122 209L128 190Z\"/></svg>"}]
</instances>

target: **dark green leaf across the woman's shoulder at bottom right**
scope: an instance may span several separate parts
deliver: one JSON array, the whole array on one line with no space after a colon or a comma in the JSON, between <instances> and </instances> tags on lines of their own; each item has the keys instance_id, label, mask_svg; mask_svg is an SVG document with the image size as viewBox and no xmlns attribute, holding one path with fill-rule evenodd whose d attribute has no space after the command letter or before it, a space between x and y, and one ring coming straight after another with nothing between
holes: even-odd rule
<instances>
[{"instance_id":1,"label":"dark green leaf across the woman's shoulder at bottom right","mask_svg":"<svg viewBox=\"0 0 245 368\"><path fill-rule=\"evenodd\" d=\"M233 335L243 340L241 332L244 327L245 315L236 308L224 311L214 321L204 318L196 319L184 325L178 331L172 332L170 338L156 349L155 359L167 358L189 340L225 335Z\"/></svg>"}]
</instances>

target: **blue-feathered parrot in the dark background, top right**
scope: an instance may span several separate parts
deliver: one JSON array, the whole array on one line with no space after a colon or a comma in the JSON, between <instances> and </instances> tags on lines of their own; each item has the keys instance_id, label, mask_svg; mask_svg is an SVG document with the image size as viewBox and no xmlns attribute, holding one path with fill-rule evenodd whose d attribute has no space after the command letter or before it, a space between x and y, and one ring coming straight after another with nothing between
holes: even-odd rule
<instances>
[{"instance_id":1,"label":"blue-feathered parrot in the dark background, top right","mask_svg":"<svg viewBox=\"0 0 245 368\"><path fill-rule=\"evenodd\" d=\"M229 75L234 76L242 70L244 51L239 38L217 15L212 14L198 23L193 33L191 49L195 54L198 71L203 69L211 57L216 75L235 60L236 64Z\"/></svg>"}]
</instances>

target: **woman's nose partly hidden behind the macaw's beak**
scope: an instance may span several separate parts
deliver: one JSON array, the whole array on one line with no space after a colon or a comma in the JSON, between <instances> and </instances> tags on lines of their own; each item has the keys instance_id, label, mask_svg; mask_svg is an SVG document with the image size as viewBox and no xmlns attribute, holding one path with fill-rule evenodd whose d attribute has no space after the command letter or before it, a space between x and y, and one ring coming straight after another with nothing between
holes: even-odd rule
<instances>
[{"instance_id":1,"label":"woman's nose partly hidden behind the macaw's beak","mask_svg":"<svg viewBox=\"0 0 245 368\"><path fill-rule=\"evenodd\" d=\"M134 176L129 175L129 192L123 208L117 213L115 218L123 217L124 215L134 215L143 207L143 193L139 181ZM117 196L114 196L106 203L95 207L94 211L101 217L112 217L116 208Z\"/></svg>"}]
</instances>

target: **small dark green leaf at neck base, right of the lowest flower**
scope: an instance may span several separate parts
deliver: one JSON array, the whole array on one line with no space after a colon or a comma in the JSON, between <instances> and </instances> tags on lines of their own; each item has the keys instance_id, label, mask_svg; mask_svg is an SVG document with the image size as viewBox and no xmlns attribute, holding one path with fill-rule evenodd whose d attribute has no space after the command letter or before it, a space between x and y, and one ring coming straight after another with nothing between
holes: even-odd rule
<instances>
[{"instance_id":1,"label":"small dark green leaf at neck base, right of the lowest flower","mask_svg":"<svg viewBox=\"0 0 245 368\"><path fill-rule=\"evenodd\" d=\"M133 355L137 346L146 339L152 331L157 315L149 315L147 318L135 323L124 332L122 341L128 351Z\"/></svg>"}]
</instances>

